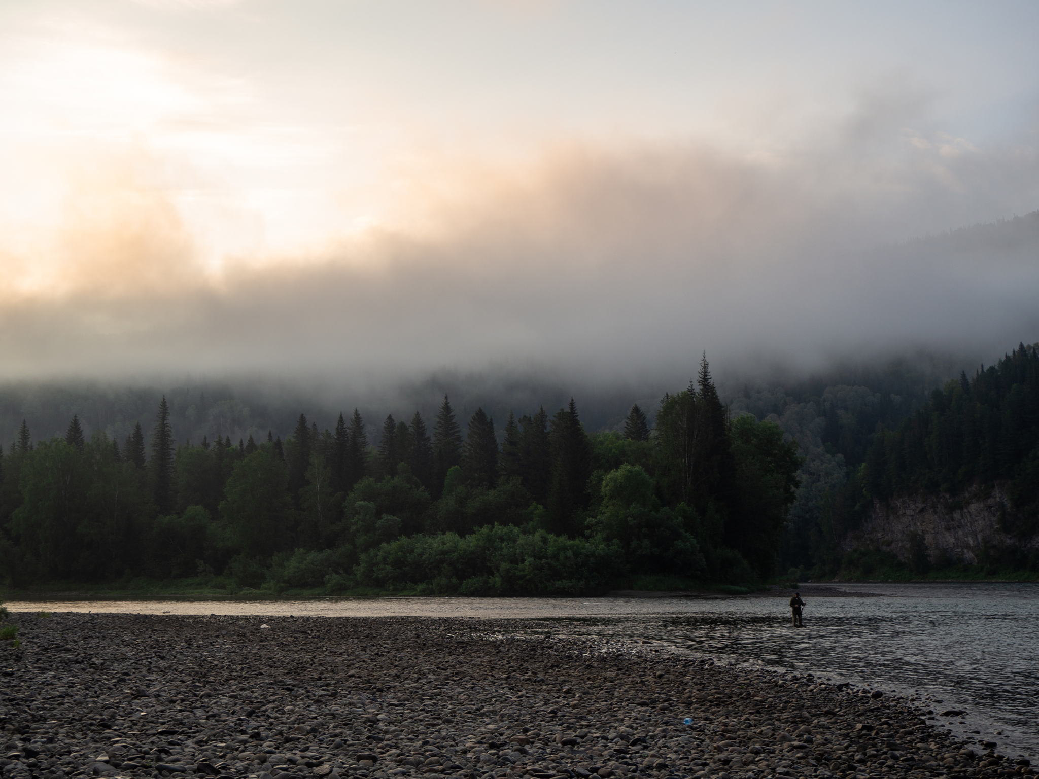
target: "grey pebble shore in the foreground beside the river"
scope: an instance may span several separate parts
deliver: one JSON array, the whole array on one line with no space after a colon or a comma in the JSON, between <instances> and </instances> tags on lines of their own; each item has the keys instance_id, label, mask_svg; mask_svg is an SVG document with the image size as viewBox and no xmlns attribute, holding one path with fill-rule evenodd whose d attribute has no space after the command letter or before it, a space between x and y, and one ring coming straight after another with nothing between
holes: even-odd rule
<instances>
[{"instance_id":1,"label":"grey pebble shore in the foreground beside the river","mask_svg":"<svg viewBox=\"0 0 1039 779\"><path fill-rule=\"evenodd\" d=\"M515 620L15 619L21 646L0 647L14 779L1035 773L879 691L517 637Z\"/></svg>"}]
</instances>

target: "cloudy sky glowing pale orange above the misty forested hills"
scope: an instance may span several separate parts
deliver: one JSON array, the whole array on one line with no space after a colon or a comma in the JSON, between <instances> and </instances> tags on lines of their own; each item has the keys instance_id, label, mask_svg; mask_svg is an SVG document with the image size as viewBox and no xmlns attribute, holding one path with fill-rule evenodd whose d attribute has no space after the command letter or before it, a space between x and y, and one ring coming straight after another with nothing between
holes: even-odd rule
<instances>
[{"instance_id":1,"label":"cloudy sky glowing pale orange above the misty forested hills","mask_svg":"<svg viewBox=\"0 0 1039 779\"><path fill-rule=\"evenodd\" d=\"M1030 2L0 0L0 378L994 358L1039 341L1039 231L961 229L1039 210L1036 29Z\"/></svg>"}]
</instances>

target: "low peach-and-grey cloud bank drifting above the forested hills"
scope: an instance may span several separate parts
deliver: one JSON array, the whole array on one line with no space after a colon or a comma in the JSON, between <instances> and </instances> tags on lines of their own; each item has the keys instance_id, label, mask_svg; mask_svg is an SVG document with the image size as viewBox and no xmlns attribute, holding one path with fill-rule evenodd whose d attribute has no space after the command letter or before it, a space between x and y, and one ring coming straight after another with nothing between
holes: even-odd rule
<instances>
[{"instance_id":1,"label":"low peach-and-grey cloud bank drifting above the forested hills","mask_svg":"<svg viewBox=\"0 0 1039 779\"><path fill-rule=\"evenodd\" d=\"M684 380L702 350L745 371L1039 341L1039 219L991 224L1039 205L1035 154L905 131L858 155L880 119L855 122L851 139L765 157L564 143L523 167L453 166L421 219L218 272L136 173L78 187L46 284L3 283L3 371L656 383Z\"/></svg>"}]
</instances>

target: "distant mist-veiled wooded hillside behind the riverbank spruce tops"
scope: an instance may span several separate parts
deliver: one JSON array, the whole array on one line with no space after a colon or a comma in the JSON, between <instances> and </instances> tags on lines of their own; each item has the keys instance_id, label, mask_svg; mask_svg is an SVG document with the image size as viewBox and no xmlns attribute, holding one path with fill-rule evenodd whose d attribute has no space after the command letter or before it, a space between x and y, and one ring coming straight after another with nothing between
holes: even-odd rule
<instances>
[{"instance_id":1,"label":"distant mist-veiled wooded hillside behind the riverbank spruce tops","mask_svg":"<svg viewBox=\"0 0 1039 779\"><path fill-rule=\"evenodd\" d=\"M849 357L818 372L775 371L753 375L749 371L722 373L719 395L734 408L764 419L780 413L788 398L798 402L822 397L827 387L864 386L872 393L897 394L912 402L926 399L928 393L950 378L969 370L970 357L954 357L917 352L886 360L854 361ZM724 370L722 368L722 370ZM696 364L687 367L695 375ZM680 386L687 383L689 377ZM62 437L69 420L78 415L84 433L101 431L111 439L123 440L136 423L144 429L150 442L150 421L162 397L170 409L174 438L179 444L203 437L210 440L230 437L237 444L249 435L266 438L268 431L286 438L291 435L300 412L320 429L332 429L340 413L358 408L372 424L387 414L401 417L419 411L431 418L445 395L459 414L468 418L482 407L491 418L503 421L509 411L527 413L543 406L561 408L574 397L581 400L582 421L591 431L622 430L633 403L645 409L650 423L665 393L674 385L663 381L656 386L644 379L631 384L603 385L586 380L540 378L536 375L491 372L462 374L444 372L423 381L354 392L318 384L312 387L275 382L188 382L169 384L104 384L92 381L11 382L0 386L0 445L5 450L18 436L25 421L35 439ZM378 431L372 431L378 442Z\"/></svg>"}]
</instances>

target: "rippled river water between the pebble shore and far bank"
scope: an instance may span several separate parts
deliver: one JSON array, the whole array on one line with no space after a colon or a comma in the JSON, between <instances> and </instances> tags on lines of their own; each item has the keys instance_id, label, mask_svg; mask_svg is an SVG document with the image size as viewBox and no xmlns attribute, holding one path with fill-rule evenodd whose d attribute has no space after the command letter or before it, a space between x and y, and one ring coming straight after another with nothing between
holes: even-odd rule
<instances>
[{"instance_id":1,"label":"rippled river water between the pebble shore and far bank","mask_svg":"<svg viewBox=\"0 0 1039 779\"><path fill-rule=\"evenodd\" d=\"M778 598L316 598L308 600L66 601L11 611L137 614L418 616L543 620L520 633L645 639L722 662L811 671L915 697L959 733L1039 755L1039 585L844 585L884 597L812 597L794 629ZM641 644L639 645L642 646ZM962 719L963 724L960 724ZM994 735L1002 730L1002 735Z\"/></svg>"}]
</instances>

